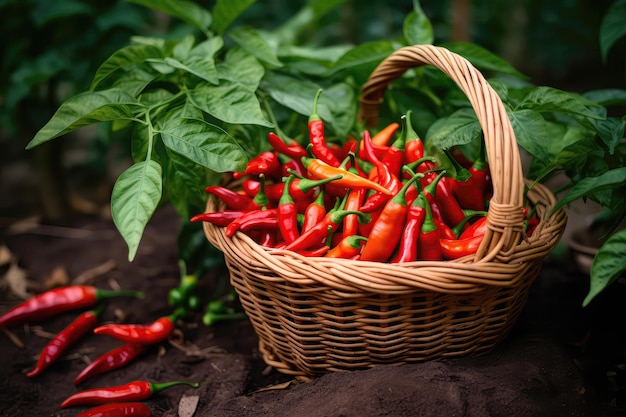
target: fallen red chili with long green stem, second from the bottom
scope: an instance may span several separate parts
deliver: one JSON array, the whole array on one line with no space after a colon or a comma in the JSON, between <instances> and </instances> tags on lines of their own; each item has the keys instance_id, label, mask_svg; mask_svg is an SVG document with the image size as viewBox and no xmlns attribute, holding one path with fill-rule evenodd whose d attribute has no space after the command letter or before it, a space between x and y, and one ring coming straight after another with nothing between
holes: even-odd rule
<instances>
[{"instance_id":1,"label":"fallen red chili with long green stem, second from the bottom","mask_svg":"<svg viewBox=\"0 0 626 417\"><path fill-rule=\"evenodd\" d=\"M197 388L196 382L172 381L153 383L148 381L132 381L128 384L106 388L93 388L77 392L61 403L61 408L81 405L99 405L118 401L147 400L155 394L175 385L189 385Z\"/></svg>"}]
</instances>

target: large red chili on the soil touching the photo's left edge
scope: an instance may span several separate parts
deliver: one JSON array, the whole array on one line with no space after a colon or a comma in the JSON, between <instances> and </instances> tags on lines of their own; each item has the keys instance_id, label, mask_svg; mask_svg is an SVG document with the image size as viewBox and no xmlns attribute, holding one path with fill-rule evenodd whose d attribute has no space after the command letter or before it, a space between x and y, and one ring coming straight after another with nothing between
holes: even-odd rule
<instances>
[{"instance_id":1,"label":"large red chili on the soil touching the photo's left edge","mask_svg":"<svg viewBox=\"0 0 626 417\"><path fill-rule=\"evenodd\" d=\"M143 298L132 290L101 290L89 285L69 285L37 294L13 307L0 317L0 327L42 321L66 311L93 307L112 297Z\"/></svg>"}]
</instances>

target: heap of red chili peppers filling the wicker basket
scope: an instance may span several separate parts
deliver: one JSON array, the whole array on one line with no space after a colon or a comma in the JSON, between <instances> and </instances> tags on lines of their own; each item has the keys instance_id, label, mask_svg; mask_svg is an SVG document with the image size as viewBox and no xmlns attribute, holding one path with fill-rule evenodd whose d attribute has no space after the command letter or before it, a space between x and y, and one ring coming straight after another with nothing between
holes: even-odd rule
<instances>
[{"instance_id":1,"label":"heap of red chili peppers filling the wicker basket","mask_svg":"<svg viewBox=\"0 0 626 417\"><path fill-rule=\"evenodd\" d=\"M444 151L450 175L425 154L409 111L373 137L364 131L336 145L324 137L318 99L319 92L306 147L270 132L272 150L233 173L241 189L206 188L226 208L191 221L305 256L401 263L476 253L492 195L484 144L473 161ZM538 221L527 222L530 234Z\"/></svg>"}]
</instances>

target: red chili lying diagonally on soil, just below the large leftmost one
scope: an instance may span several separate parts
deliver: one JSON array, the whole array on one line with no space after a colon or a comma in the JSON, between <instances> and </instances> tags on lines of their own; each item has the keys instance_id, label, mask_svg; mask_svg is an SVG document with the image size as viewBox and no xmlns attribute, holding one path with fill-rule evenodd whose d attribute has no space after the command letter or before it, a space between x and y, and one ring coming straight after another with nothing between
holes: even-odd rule
<instances>
[{"instance_id":1,"label":"red chili lying diagonally on soil, just below the large leftmost one","mask_svg":"<svg viewBox=\"0 0 626 417\"><path fill-rule=\"evenodd\" d=\"M102 308L102 305L100 305L95 310L81 313L67 327L57 333L39 354L35 368L28 372L26 376L32 378L41 374L46 368L59 359L68 348L73 346L87 334L87 332L92 330L98 323L98 316Z\"/></svg>"}]
</instances>

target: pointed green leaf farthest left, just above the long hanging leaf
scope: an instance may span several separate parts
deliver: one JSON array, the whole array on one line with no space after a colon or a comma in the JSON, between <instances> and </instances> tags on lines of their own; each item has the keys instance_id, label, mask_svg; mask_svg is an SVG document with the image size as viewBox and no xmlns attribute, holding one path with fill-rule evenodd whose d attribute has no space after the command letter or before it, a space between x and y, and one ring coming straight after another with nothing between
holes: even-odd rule
<instances>
[{"instance_id":1,"label":"pointed green leaf farthest left, just above the long hanging leaf","mask_svg":"<svg viewBox=\"0 0 626 417\"><path fill-rule=\"evenodd\" d=\"M84 126L111 120L131 120L135 117L133 108L140 108L140 104L121 90L78 94L61 104L50 121L26 145L26 149Z\"/></svg>"}]
</instances>

